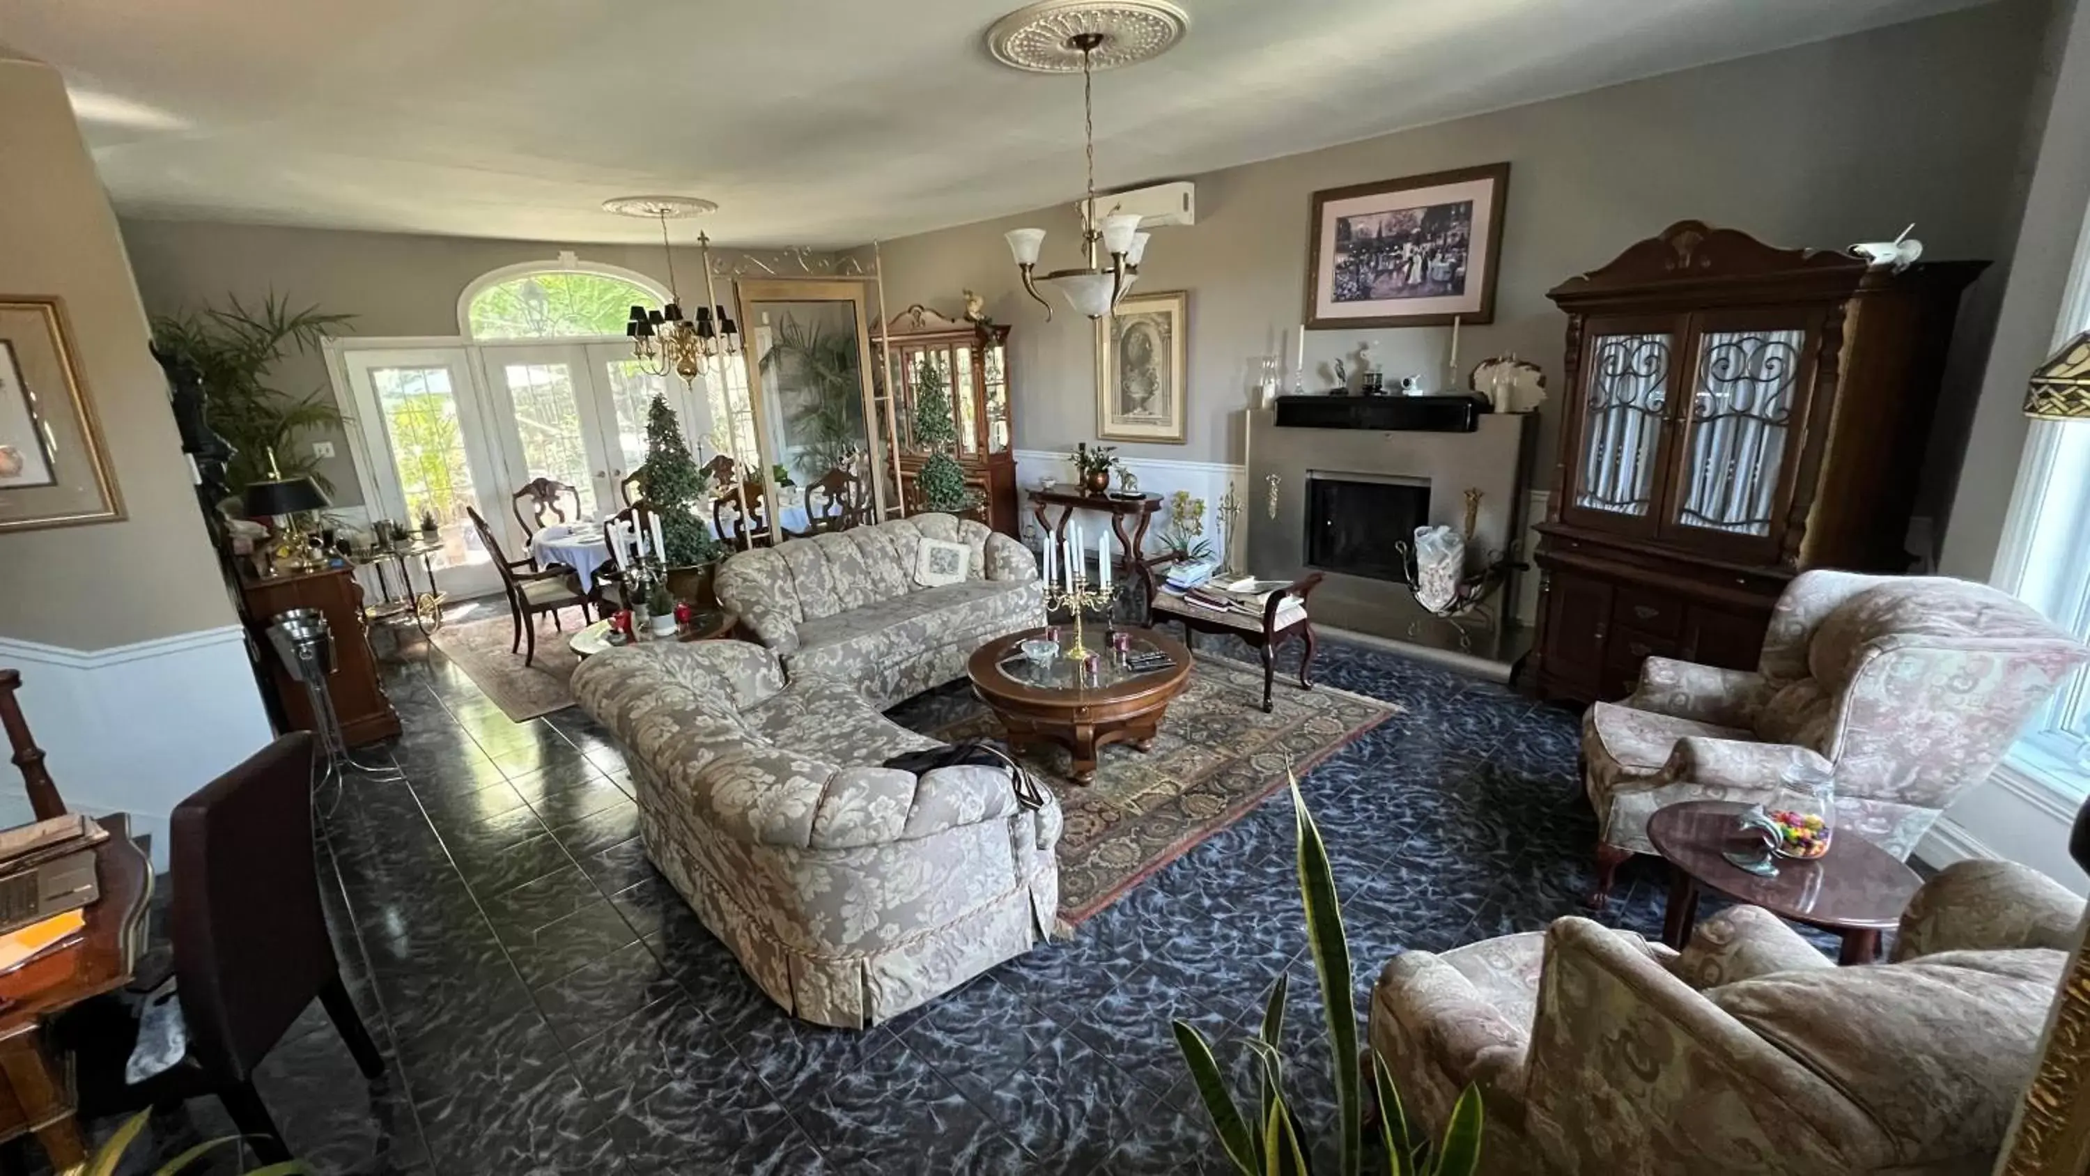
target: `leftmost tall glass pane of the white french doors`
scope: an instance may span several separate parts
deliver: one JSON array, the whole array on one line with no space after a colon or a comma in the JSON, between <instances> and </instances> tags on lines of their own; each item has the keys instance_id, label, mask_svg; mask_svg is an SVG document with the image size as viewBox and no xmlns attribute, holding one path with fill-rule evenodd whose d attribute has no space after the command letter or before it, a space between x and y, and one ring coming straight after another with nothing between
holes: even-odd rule
<instances>
[{"instance_id":1,"label":"leftmost tall glass pane of the white french doors","mask_svg":"<svg viewBox=\"0 0 2090 1176\"><path fill-rule=\"evenodd\" d=\"M397 522L418 526L424 516L435 516L443 535L443 551L433 560L439 568L487 562L489 556L464 516L464 508L477 499L449 368L372 368L370 384L378 395L385 437L405 493L408 518Z\"/></svg>"}]
</instances>

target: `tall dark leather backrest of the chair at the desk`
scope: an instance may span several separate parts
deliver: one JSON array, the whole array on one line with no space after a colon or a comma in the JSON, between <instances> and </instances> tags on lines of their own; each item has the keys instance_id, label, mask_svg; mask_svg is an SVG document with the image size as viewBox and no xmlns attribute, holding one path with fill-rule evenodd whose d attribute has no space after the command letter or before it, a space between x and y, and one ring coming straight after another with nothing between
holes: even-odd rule
<instances>
[{"instance_id":1,"label":"tall dark leather backrest of the chair at the desk","mask_svg":"<svg viewBox=\"0 0 2090 1176\"><path fill-rule=\"evenodd\" d=\"M188 1051L245 1082L341 975L311 859L309 731L261 748L173 808L169 930Z\"/></svg>"}]
</instances>

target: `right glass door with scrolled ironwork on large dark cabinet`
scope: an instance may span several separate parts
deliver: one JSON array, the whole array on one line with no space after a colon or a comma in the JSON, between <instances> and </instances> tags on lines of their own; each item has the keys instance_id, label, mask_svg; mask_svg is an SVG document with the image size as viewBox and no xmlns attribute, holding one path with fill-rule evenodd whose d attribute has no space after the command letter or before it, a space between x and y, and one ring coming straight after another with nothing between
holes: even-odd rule
<instances>
[{"instance_id":1,"label":"right glass door with scrolled ironwork on large dark cabinet","mask_svg":"<svg viewBox=\"0 0 2090 1176\"><path fill-rule=\"evenodd\" d=\"M1789 501L1816 330L1806 311L1708 313L1693 326L1662 531L1699 547L1766 556Z\"/></svg>"}]
</instances>

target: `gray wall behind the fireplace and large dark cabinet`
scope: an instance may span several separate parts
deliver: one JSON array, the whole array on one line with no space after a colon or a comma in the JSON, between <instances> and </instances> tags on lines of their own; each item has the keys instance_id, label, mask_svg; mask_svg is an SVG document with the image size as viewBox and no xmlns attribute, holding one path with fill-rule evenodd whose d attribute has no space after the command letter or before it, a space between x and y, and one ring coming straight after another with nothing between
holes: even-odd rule
<instances>
[{"instance_id":1,"label":"gray wall behind the fireplace and large dark cabinet","mask_svg":"<svg viewBox=\"0 0 2090 1176\"><path fill-rule=\"evenodd\" d=\"M1843 246L1917 221L1929 257L2006 259L2046 8L2008 0L1195 175L1198 224L1158 230L1139 278L1143 292L1189 290L1189 437L1181 447L1122 449L1239 462L1233 409L1246 403L1254 357L1287 347L1300 322L1317 188L1511 163L1494 324L1465 328L1461 366L1515 351L1549 370L1555 393L1534 447L1542 470L1555 453L1565 328L1545 292L1676 219L1741 228L1783 246ZM1112 173L1108 157L1097 167L1106 182L1129 180ZM1078 175L1068 175L1062 207L882 244L892 305L924 301L955 313L959 290L972 288L989 313L1014 324L1022 449L1095 437L1091 324L1064 305L1047 324L1016 284L1001 242L1009 228L1047 228L1041 267L1068 265L1074 184ZM1998 290L2000 272L1990 272L1969 299L1948 420L1971 414ZM1442 378L1448 328L1308 332L1308 366L1352 353L1367 334L1390 374L1432 368ZM1325 384L1308 374L1308 386Z\"/></svg>"}]
</instances>

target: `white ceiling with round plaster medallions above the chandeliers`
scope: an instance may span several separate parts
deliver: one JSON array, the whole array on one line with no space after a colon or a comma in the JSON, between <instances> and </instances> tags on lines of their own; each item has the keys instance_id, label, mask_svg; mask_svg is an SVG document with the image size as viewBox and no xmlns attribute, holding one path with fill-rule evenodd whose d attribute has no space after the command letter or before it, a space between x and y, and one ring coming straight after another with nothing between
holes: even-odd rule
<instances>
[{"instance_id":1,"label":"white ceiling with round plaster medallions above the chandeliers","mask_svg":"<svg viewBox=\"0 0 2090 1176\"><path fill-rule=\"evenodd\" d=\"M1981 0L1183 0L1097 75L1104 188L1294 155ZM995 65L1016 0L0 0L119 211L725 244L861 244L1081 194L1081 81Z\"/></svg>"}]
</instances>

